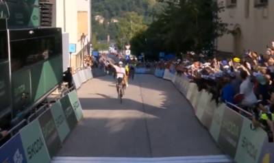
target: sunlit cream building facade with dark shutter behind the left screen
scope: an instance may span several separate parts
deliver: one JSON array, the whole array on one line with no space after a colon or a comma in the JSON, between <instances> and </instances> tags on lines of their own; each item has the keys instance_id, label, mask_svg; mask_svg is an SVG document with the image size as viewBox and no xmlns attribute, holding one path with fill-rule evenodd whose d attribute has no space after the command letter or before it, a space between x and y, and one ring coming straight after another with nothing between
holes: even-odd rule
<instances>
[{"instance_id":1,"label":"sunlit cream building facade with dark shutter behind the left screen","mask_svg":"<svg viewBox=\"0 0 274 163\"><path fill-rule=\"evenodd\" d=\"M40 0L40 6L41 25L62 28L64 68L83 66L91 40L91 0ZM71 62L69 44L76 45Z\"/></svg>"}]
</instances>

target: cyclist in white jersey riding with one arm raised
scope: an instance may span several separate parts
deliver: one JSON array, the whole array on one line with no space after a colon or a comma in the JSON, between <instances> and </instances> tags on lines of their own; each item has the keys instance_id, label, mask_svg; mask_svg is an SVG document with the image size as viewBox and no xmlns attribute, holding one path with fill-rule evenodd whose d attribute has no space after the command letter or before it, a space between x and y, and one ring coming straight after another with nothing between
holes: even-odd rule
<instances>
[{"instance_id":1,"label":"cyclist in white jersey riding with one arm raised","mask_svg":"<svg viewBox=\"0 0 274 163\"><path fill-rule=\"evenodd\" d=\"M119 62L119 66L116 66L115 64L112 64L110 62L110 65L115 68L116 70L116 90L119 97L119 84L123 84L123 88L125 88L125 68L123 68L123 62Z\"/></svg>"}]
</instances>

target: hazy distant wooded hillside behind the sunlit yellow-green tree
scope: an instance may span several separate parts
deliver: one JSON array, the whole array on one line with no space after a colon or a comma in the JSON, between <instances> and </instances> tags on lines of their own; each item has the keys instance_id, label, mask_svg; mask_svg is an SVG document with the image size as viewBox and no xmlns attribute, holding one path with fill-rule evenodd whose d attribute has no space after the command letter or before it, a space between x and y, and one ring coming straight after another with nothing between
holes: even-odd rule
<instances>
[{"instance_id":1,"label":"hazy distant wooded hillside behind the sunlit yellow-green tree","mask_svg":"<svg viewBox=\"0 0 274 163\"><path fill-rule=\"evenodd\" d=\"M98 40L115 40L119 34L117 23L112 22L112 18L119 20L123 18L126 12L135 12L142 16L146 24L152 22L152 12L157 12L154 9L155 0L92 0L92 32L97 36ZM105 18L103 24L95 21L95 16L100 15Z\"/></svg>"}]
</instances>

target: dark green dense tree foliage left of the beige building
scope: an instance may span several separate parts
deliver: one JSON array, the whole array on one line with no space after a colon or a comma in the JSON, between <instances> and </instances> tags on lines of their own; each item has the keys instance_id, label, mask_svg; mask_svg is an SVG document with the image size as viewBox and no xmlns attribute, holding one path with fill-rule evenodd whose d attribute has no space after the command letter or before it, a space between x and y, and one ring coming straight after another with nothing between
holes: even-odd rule
<instances>
[{"instance_id":1,"label":"dark green dense tree foliage left of the beige building","mask_svg":"<svg viewBox=\"0 0 274 163\"><path fill-rule=\"evenodd\" d=\"M223 10L214 0L161 0L164 12L158 15L147 31L134 36L132 50L147 58L157 58L160 51L185 53L208 51L214 53L214 40L226 32L218 17Z\"/></svg>"}]
</instances>

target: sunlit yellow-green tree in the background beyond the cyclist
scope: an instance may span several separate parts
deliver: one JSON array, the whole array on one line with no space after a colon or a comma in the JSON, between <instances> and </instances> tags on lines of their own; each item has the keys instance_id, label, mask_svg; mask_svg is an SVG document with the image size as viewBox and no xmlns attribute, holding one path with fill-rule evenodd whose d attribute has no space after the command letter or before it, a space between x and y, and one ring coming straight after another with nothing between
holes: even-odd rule
<instances>
[{"instance_id":1,"label":"sunlit yellow-green tree in the background beyond the cyclist","mask_svg":"<svg viewBox=\"0 0 274 163\"><path fill-rule=\"evenodd\" d=\"M147 29L143 17L139 16L136 12L126 12L123 18L119 20L117 26L119 32L116 43L119 49L123 49L125 44L129 43L134 36L145 32Z\"/></svg>"}]
</instances>

